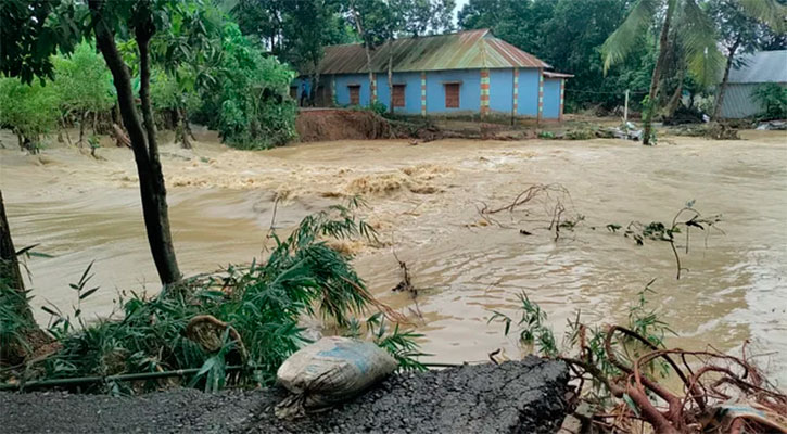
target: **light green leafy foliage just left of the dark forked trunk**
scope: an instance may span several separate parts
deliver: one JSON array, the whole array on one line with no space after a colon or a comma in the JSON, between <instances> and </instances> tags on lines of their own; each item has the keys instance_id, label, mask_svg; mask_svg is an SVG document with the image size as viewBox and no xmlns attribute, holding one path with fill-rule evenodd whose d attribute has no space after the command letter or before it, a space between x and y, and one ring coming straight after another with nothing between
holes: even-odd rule
<instances>
[{"instance_id":1,"label":"light green leafy foliage just left of the dark forked trunk","mask_svg":"<svg viewBox=\"0 0 787 434\"><path fill-rule=\"evenodd\" d=\"M52 85L60 97L64 114L75 113L81 117L85 112L97 113L112 108L115 102L112 75L96 47L82 41L73 53L59 54L52 62Z\"/></svg>"}]
</instances>

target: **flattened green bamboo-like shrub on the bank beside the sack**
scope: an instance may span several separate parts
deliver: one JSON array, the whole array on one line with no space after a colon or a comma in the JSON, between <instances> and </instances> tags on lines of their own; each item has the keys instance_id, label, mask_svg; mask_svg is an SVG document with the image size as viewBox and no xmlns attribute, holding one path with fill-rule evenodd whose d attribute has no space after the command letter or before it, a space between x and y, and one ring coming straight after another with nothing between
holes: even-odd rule
<instances>
[{"instance_id":1,"label":"flattened green bamboo-like shrub on the bank beside the sack","mask_svg":"<svg viewBox=\"0 0 787 434\"><path fill-rule=\"evenodd\" d=\"M373 237L351 209L331 207L306 217L284 240L274 235L276 248L265 264L230 267L221 273L193 278L152 298L134 294L123 304L120 320L82 324L81 330L75 331L72 321L78 319L76 315L55 316L50 331L62 349L45 360L39 376L201 368L185 384L217 390L228 378L239 384L271 384L281 362L306 342L299 327L302 315L320 315L355 330L351 316L375 303L352 269L350 257L321 241ZM79 289L81 295L87 280L86 272L72 288ZM200 334L199 330L193 333L189 323L206 316L213 317L210 326L216 326L214 331L218 332L213 335ZM393 340L390 335L380 333L375 337L398 358L417 354L411 341L417 335L399 333L398 328L393 331ZM419 367L405 359L403 367ZM226 367L233 365L245 368L238 375L228 376ZM110 383L103 385L103 391L135 392L160 386L156 381L134 387Z\"/></svg>"}]
</instances>

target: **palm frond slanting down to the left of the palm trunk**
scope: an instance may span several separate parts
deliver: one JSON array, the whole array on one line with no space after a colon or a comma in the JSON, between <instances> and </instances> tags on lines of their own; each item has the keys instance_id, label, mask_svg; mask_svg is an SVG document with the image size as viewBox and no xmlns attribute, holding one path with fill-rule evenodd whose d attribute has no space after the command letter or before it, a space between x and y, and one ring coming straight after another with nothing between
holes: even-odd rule
<instances>
[{"instance_id":1,"label":"palm frond slanting down to the left of the palm trunk","mask_svg":"<svg viewBox=\"0 0 787 434\"><path fill-rule=\"evenodd\" d=\"M639 36L647 31L658 12L659 0L639 0L634 4L623 24L601 46L604 73L610 66L622 62L636 47Z\"/></svg>"}]
</instances>

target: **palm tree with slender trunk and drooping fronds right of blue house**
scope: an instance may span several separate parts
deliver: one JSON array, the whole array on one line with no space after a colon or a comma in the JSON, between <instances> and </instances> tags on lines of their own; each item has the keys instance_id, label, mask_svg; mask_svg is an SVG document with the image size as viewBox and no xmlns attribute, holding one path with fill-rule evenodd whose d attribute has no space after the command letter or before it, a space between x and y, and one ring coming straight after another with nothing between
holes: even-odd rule
<instances>
[{"instance_id":1,"label":"palm tree with slender trunk and drooping fronds right of blue house","mask_svg":"<svg viewBox=\"0 0 787 434\"><path fill-rule=\"evenodd\" d=\"M737 0L744 10L765 22L778 23L782 5L777 0ZM784 15L780 15L784 16ZM703 86L718 80L725 63L724 55L716 44L716 29L709 14L700 8L697 0L637 0L629 16L601 46L605 73L613 64L622 62L639 43L638 36L645 34L655 20L661 18L659 36L659 56L650 80L650 92L645 104L643 117L643 144L650 144L652 117L659 82L667 54L671 50L670 31L681 44L684 64L694 79Z\"/></svg>"}]
</instances>

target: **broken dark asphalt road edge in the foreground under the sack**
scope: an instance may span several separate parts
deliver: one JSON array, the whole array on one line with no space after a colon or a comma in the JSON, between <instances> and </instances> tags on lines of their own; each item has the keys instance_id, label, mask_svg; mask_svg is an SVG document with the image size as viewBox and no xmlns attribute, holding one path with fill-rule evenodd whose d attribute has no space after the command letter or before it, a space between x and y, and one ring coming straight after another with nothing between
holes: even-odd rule
<instances>
[{"instance_id":1,"label":"broken dark asphalt road edge in the foreground under the sack","mask_svg":"<svg viewBox=\"0 0 787 434\"><path fill-rule=\"evenodd\" d=\"M335 409L294 421L272 407L280 390L140 397L0 393L8 433L553 433L566 411L568 370L534 357L392 375Z\"/></svg>"}]
</instances>

